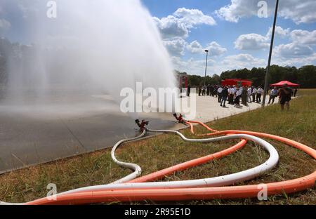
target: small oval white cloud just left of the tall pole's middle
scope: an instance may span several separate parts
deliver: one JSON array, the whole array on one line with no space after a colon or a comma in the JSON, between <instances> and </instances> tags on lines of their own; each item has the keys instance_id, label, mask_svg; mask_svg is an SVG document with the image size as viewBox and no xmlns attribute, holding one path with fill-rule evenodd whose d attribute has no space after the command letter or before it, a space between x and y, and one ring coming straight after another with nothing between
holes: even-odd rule
<instances>
[{"instance_id":1,"label":"small oval white cloud just left of the tall pole's middle","mask_svg":"<svg viewBox=\"0 0 316 219\"><path fill-rule=\"evenodd\" d=\"M268 47L268 37L260 34L242 34L235 41L235 48L244 51L255 51Z\"/></svg>"}]
</instances>

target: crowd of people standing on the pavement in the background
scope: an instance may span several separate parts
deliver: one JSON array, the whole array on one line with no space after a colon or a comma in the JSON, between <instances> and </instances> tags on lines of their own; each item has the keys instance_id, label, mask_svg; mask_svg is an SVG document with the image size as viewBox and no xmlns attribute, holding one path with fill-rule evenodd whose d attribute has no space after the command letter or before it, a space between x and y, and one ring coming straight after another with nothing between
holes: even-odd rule
<instances>
[{"instance_id":1,"label":"crowd of people standing on the pavement in the background","mask_svg":"<svg viewBox=\"0 0 316 219\"><path fill-rule=\"evenodd\" d=\"M261 103L263 96L263 88L261 86L221 86L221 85L207 85L199 86L199 96L213 96L218 99L221 107L226 107L226 102L235 107L242 107L242 105L248 106L250 102ZM279 97L279 104L281 109L284 110L284 105L289 110L289 101L291 96L296 96L297 88L291 89L284 84L281 88L271 88L268 90L269 101L268 104L273 104L275 98ZM190 95L190 92L187 93Z\"/></svg>"}]
</instances>

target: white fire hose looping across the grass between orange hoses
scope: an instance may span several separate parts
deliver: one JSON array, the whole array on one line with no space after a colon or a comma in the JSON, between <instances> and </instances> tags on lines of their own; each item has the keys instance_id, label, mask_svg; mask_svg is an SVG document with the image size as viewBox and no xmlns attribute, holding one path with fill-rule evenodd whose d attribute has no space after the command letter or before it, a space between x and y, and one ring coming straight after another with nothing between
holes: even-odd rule
<instances>
[{"instance_id":1,"label":"white fire hose looping across the grass between orange hoses","mask_svg":"<svg viewBox=\"0 0 316 219\"><path fill-rule=\"evenodd\" d=\"M142 138L143 135L145 135L146 131L148 132L160 132L160 133L176 133L185 141L188 142L217 142L220 140L232 140L232 139L246 139L251 140L258 145L261 145L265 150L268 151L270 154L270 157L265 163L256 166L254 168L249 168L246 171L241 171L238 173L232 173L228 175L222 175L217 176L213 178L204 178L199 180L178 180L178 181L171 181L171 182L148 182L148 183L124 183L129 180L133 180L133 178L138 177L141 173L141 168L137 164L131 164L131 163L125 163L122 161L118 161L116 157L114 156L115 150L119 145L121 145L123 142L129 141L129 140L136 140L138 138ZM185 188L185 187L216 187L216 186L224 186L224 185L232 185L234 183L242 182L244 180L249 180L252 178L256 178L258 175L261 175L265 173L266 171L269 171L272 169L275 165L277 165L277 162L279 160L279 154L277 153L277 150L275 150L275 147L270 145L269 142L255 137L253 135L246 135L246 134L237 134L237 135L225 135L217 138L204 138L204 139L191 139L186 138L182 133L178 131L171 131L171 130L144 130L143 133L138 135L135 138L129 138L120 140L117 142L117 144L114 145L111 152L111 157L114 160L116 164L119 166L124 166L127 168L131 168L134 170L133 173L125 176L124 178L121 178L114 183L110 183L107 185L93 185L88 187L81 187L75 190L69 190L67 192L61 192L58 195L62 194L70 194L72 192L88 192L88 191L97 191L97 190L120 190L120 189L145 189L145 188ZM5 204L4 202L0 202L0 204Z\"/></svg>"}]
</instances>

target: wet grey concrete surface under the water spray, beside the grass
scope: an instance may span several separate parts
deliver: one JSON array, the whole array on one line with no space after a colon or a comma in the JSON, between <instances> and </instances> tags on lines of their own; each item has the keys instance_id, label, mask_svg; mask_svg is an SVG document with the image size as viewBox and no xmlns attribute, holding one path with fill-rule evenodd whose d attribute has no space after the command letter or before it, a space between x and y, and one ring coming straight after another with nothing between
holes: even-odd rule
<instances>
[{"instance_id":1,"label":"wet grey concrete surface under the water spray, beside the grass","mask_svg":"<svg viewBox=\"0 0 316 219\"><path fill-rule=\"evenodd\" d=\"M78 98L82 99L74 99ZM43 106L0 104L0 173L112 147L122 138L138 135L135 115L119 112L111 100L102 99L105 109L100 107L100 98L92 99L74 100L73 105L55 109L46 105L48 110L41 109ZM76 105L78 102L80 105ZM150 128L154 129L176 126L172 114L139 117L150 120Z\"/></svg>"}]
</instances>

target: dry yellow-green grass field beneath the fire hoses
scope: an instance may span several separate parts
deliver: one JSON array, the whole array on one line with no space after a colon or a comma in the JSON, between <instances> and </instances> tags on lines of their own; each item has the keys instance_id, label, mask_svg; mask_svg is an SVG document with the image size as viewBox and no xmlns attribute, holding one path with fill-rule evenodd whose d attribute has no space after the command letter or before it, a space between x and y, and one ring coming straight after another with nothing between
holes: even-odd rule
<instances>
[{"instance_id":1,"label":"dry yellow-green grass field beneath the fire hoses","mask_svg":"<svg viewBox=\"0 0 316 219\"><path fill-rule=\"evenodd\" d=\"M272 105L265 107L264 110L258 109L211 121L208 125L218 131L239 129L271 133L296 140L316 149L316 89L301 90L299 95L299 98L291 101L289 112L281 112L279 105ZM195 130L197 133L206 133L206 130L199 126L195 126ZM182 132L187 137L197 138L190 133L189 129ZM190 143L183 142L177 135L164 134L122 145L117 151L117 157L120 160L138 164L143 168L143 174L146 174L218 152L236 142L231 140L208 144ZM279 152L279 164L263 176L237 185L289 180L315 171L316 161L304 152L281 143L270 142ZM268 159L268 154L249 142L242 150L230 154L228 157L175 173L164 180L210 178L236 173L262 164L266 159ZM62 192L87 185L111 183L128 173L131 171L120 168L112 162L110 149L100 150L0 175L0 200L9 202L30 201L45 197L48 192L46 190L48 183L55 183L58 192ZM268 198L268 201L226 199L185 201L176 202L176 204L316 204L315 188L295 194L272 196ZM142 202L142 204L144 203L161 204L162 202Z\"/></svg>"}]
</instances>

